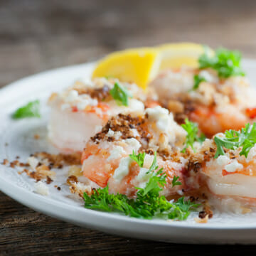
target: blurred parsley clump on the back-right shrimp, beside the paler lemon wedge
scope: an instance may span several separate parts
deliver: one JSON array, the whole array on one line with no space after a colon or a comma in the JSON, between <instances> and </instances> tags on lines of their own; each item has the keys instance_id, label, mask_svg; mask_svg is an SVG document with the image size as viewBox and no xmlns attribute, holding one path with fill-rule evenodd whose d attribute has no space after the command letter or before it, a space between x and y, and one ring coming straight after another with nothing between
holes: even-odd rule
<instances>
[{"instance_id":1,"label":"blurred parsley clump on the back-right shrimp, beside the paler lemon wedge","mask_svg":"<svg viewBox=\"0 0 256 256\"><path fill-rule=\"evenodd\" d=\"M215 55L210 55L208 48L199 59L199 68L213 68L218 72L219 78L229 78L230 76L242 75L241 54L237 50L227 50L219 48Z\"/></svg>"}]
</instances>

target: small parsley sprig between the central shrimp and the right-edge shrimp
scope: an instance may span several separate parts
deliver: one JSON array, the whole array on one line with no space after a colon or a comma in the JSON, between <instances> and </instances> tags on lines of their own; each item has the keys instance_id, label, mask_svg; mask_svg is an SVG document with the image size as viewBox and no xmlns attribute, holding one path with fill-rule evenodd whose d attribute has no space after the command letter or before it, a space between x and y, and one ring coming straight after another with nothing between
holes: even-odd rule
<instances>
[{"instance_id":1,"label":"small parsley sprig between the central shrimp and the right-edge shrimp","mask_svg":"<svg viewBox=\"0 0 256 256\"><path fill-rule=\"evenodd\" d=\"M198 124L190 122L187 118L185 119L185 124L181 124L181 127L188 133L186 135L185 147L181 152L185 152L188 146L191 146L193 151L195 151L193 144L194 142L203 142L206 139L206 136L202 133L198 137Z\"/></svg>"}]
</instances>

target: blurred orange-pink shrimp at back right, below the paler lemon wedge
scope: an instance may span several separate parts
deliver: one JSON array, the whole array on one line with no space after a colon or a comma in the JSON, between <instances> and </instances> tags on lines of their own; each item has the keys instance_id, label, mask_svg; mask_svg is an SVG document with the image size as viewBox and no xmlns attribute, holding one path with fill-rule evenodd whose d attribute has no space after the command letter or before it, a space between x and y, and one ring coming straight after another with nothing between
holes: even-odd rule
<instances>
[{"instance_id":1,"label":"blurred orange-pink shrimp at back right, below the paler lemon wedge","mask_svg":"<svg viewBox=\"0 0 256 256\"><path fill-rule=\"evenodd\" d=\"M206 79L196 89L194 75ZM181 68L160 73L149 87L155 88L159 102L174 112L178 123L188 117L208 137L255 122L256 90L243 77L220 79L211 69Z\"/></svg>"}]
</instances>

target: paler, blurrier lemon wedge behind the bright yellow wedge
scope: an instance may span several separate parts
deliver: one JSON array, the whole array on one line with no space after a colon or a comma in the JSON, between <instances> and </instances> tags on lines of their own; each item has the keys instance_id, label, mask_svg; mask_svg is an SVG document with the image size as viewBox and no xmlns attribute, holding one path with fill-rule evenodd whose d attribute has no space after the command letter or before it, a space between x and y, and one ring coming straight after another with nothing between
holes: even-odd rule
<instances>
[{"instance_id":1,"label":"paler, blurrier lemon wedge behind the bright yellow wedge","mask_svg":"<svg viewBox=\"0 0 256 256\"><path fill-rule=\"evenodd\" d=\"M205 51L198 43L168 43L156 48L161 53L160 70L181 68L183 65L198 68L198 58ZM213 50L209 50L213 54Z\"/></svg>"}]
</instances>

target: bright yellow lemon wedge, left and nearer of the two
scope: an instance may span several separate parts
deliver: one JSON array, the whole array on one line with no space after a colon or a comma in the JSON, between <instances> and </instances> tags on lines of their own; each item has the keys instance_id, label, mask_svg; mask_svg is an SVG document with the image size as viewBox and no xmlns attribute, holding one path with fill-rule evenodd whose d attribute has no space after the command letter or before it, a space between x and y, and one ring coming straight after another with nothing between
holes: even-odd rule
<instances>
[{"instance_id":1,"label":"bright yellow lemon wedge, left and nearer of the two","mask_svg":"<svg viewBox=\"0 0 256 256\"><path fill-rule=\"evenodd\" d=\"M146 88L161 64L157 48L134 48L111 53L97 63L92 78L113 77Z\"/></svg>"}]
</instances>

